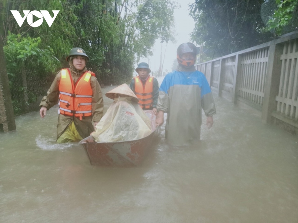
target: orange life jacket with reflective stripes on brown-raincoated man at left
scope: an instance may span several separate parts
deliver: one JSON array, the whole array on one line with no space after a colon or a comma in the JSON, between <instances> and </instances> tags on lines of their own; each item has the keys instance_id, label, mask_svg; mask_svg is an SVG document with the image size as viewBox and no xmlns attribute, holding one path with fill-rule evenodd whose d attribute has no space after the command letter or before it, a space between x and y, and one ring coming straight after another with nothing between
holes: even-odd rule
<instances>
[{"instance_id":1,"label":"orange life jacket with reflective stripes on brown-raincoated man at left","mask_svg":"<svg viewBox=\"0 0 298 223\"><path fill-rule=\"evenodd\" d=\"M86 71L74 85L69 69L61 70L59 84L59 114L79 117L92 115L92 88L90 84L91 75L95 74Z\"/></svg>"}]
</instances>

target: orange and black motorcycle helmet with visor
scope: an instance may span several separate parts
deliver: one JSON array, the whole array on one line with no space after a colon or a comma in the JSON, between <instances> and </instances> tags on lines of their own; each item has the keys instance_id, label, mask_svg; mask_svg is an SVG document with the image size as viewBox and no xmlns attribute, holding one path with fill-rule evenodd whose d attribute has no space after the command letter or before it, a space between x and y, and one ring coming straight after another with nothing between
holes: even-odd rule
<instances>
[{"instance_id":1,"label":"orange and black motorcycle helmet with visor","mask_svg":"<svg viewBox=\"0 0 298 223\"><path fill-rule=\"evenodd\" d=\"M193 53L194 59L181 59L182 54ZM198 54L197 47L193 43L182 43L177 48L177 60L178 63L190 67L195 65L196 56Z\"/></svg>"}]
</instances>

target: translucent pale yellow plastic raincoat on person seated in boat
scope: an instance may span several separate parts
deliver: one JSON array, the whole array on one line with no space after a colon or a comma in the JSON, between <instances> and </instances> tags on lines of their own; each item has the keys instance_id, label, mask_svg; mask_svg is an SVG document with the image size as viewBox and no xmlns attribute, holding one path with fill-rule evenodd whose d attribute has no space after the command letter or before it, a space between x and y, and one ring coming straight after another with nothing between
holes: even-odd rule
<instances>
[{"instance_id":1,"label":"translucent pale yellow plastic raincoat on person seated in boat","mask_svg":"<svg viewBox=\"0 0 298 223\"><path fill-rule=\"evenodd\" d=\"M96 142L141 139L151 133L150 119L131 97L115 98L91 134Z\"/></svg>"}]
</instances>

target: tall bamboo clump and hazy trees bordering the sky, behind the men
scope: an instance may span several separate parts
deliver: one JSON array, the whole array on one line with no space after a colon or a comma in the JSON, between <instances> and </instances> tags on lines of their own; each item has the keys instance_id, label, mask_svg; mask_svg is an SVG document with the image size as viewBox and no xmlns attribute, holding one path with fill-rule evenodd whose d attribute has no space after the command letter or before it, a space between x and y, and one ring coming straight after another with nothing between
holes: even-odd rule
<instances>
[{"instance_id":1,"label":"tall bamboo clump and hazy trees bordering the sky, behind the men","mask_svg":"<svg viewBox=\"0 0 298 223\"><path fill-rule=\"evenodd\" d=\"M170 0L86 0L77 7L77 42L90 54L98 79L105 84L129 82L134 62L152 54L156 39L173 40L175 7Z\"/></svg>"}]
</instances>

